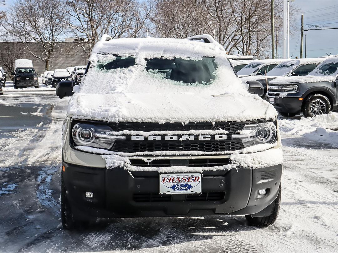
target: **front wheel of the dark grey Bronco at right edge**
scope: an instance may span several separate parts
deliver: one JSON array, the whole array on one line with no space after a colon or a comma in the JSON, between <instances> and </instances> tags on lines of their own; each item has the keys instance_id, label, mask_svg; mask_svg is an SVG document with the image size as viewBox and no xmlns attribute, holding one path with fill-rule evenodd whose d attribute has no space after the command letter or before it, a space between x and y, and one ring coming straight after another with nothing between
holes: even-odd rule
<instances>
[{"instance_id":1,"label":"front wheel of the dark grey Bronco at right edge","mask_svg":"<svg viewBox=\"0 0 338 253\"><path fill-rule=\"evenodd\" d=\"M327 114L330 111L330 100L322 94L312 94L308 96L303 106L303 114L305 117Z\"/></svg>"}]
</instances>

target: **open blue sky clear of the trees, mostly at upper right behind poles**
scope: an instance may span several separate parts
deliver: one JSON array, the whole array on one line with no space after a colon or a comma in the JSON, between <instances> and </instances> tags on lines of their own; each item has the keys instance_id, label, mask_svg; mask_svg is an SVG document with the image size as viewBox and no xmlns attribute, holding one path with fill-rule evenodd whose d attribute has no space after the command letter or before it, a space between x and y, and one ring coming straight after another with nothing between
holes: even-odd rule
<instances>
[{"instance_id":1,"label":"open blue sky clear of the trees, mostly at upper right behind poles","mask_svg":"<svg viewBox=\"0 0 338 253\"><path fill-rule=\"evenodd\" d=\"M6 5L10 5L12 2L13 0L6 0ZM5 9L5 7L0 6L0 10ZM325 25L327 28L338 27L338 0L295 0L291 3L292 7L300 9L294 20L296 30L293 31L290 39L290 56L293 55L294 58L295 56L299 57L300 51L301 14L304 14L305 25ZM307 57L318 57L327 53L338 54L338 29L312 30L305 32L305 34L307 34ZM283 55L281 48L279 48L278 54ZM304 54L303 51L303 57Z\"/></svg>"}]
</instances>

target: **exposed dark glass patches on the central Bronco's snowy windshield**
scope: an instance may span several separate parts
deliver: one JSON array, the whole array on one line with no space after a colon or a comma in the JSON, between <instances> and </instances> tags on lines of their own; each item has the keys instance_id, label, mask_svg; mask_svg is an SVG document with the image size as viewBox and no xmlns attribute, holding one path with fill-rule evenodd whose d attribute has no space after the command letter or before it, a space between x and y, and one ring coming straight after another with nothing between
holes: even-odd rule
<instances>
[{"instance_id":1,"label":"exposed dark glass patches on the central Bronco's snowy windshield","mask_svg":"<svg viewBox=\"0 0 338 253\"><path fill-rule=\"evenodd\" d=\"M154 77L164 78L185 84L209 84L215 79L214 72L217 65L215 58L202 57L201 60L191 59L145 59L145 70ZM122 58L117 56L115 60L97 65L99 69L111 70L127 68L135 65L135 58L132 56Z\"/></svg>"}]
</instances>

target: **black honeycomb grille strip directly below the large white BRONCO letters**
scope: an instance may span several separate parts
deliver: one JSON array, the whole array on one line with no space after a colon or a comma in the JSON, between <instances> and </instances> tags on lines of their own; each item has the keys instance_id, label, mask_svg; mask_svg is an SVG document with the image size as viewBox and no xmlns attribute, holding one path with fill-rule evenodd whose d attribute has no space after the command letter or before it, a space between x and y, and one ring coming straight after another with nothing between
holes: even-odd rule
<instances>
[{"instance_id":1,"label":"black honeycomb grille strip directly below the large white BRONCO letters","mask_svg":"<svg viewBox=\"0 0 338 253\"><path fill-rule=\"evenodd\" d=\"M242 148L244 148L244 146L240 140L219 142L116 141L111 150L126 153L154 151L222 152L234 151Z\"/></svg>"}]
</instances>

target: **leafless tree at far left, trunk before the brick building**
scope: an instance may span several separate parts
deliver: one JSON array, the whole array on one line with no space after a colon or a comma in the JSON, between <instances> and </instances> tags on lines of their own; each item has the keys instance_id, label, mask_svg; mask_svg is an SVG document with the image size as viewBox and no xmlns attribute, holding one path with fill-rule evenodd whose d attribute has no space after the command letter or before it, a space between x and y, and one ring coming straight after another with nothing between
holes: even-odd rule
<instances>
[{"instance_id":1,"label":"leafless tree at far left, trunk before the brick building","mask_svg":"<svg viewBox=\"0 0 338 253\"><path fill-rule=\"evenodd\" d=\"M31 55L44 60L48 70L52 53L58 47L58 39L64 35L63 23L67 21L67 16L61 11L64 8L62 0L16 0L1 24L7 36L21 41ZM40 54L30 49L29 42L41 46Z\"/></svg>"}]
</instances>

